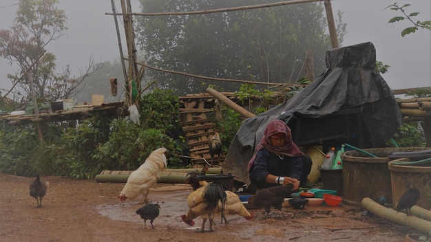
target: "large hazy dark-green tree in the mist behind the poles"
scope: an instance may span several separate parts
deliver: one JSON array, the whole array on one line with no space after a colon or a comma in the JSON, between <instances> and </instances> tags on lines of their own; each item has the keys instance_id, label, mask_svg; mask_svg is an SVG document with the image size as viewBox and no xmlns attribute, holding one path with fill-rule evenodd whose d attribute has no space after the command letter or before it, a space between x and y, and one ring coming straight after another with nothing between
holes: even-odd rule
<instances>
[{"instance_id":1,"label":"large hazy dark-green tree in the mist behind the poles","mask_svg":"<svg viewBox=\"0 0 431 242\"><path fill-rule=\"evenodd\" d=\"M149 1L145 12L187 12L272 3L262 0ZM340 13L341 14L341 13ZM313 52L316 73L326 65L330 49L322 3L284 5L212 14L145 17L136 22L136 42L145 50L145 63L162 69L200 76L262 82L295 82L301 60ZM345 33L339 19L339 36ZM204 91L198 78L165 72L146 72L158 86L177 95ZM213 83L209 83L213 84ZM217 83L220 90L238 90L236 83Z\"/></svg>"}]
</instances>

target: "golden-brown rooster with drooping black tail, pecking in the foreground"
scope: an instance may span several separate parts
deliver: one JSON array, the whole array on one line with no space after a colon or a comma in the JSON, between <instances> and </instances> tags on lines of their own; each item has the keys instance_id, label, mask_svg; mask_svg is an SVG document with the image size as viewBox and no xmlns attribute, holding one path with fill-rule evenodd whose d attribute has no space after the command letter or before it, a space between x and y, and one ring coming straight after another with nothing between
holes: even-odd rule
<instances>
[{"instance_id":1,"label":"golden-brown rooster with drooping black tail, pecking in the foreground","mask_svg":"<svg viewBox=\"0 0 431 242\"><path fill-rule=\"evenodd\" d=\"M224 216L224 206L226 204L227 195L223 186L210 182L209 184L202 186L195 191L191 192L187 197L187 205L189 206L189 212L187 215L181 215L182 221L190 226L193 226L195 222L193 219L201 217L203 219L200 232L204 232L205 223L209 219L209 231L213 231L213 217L215 209L218 206L218 202L222 203L222 216Z\"/></svg>"}]
</instances>

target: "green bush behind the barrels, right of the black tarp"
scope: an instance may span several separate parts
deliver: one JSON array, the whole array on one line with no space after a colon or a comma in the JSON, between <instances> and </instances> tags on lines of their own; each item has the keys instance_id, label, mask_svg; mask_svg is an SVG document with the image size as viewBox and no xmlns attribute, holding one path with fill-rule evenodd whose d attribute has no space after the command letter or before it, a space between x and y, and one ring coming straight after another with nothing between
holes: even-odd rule
<instances>
[{"instance_id":1,"label":"green bush behind the barrels, right of the black tarp","mask_svg":"<svg viewBox=\"0 0 431 242\"><path fill-rule=\"evenodd\" d=\"M418 122L403 123L392 137L400 147L425 147L423 129ZM391 142L386 145L393 146Z\"/></svg>"}]
</instances>

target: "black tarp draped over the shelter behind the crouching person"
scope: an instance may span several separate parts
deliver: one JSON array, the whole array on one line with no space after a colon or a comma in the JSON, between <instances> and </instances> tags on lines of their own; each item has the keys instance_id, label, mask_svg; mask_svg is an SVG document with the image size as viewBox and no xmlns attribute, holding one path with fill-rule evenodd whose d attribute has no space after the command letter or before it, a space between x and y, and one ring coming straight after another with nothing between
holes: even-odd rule
<instances>
[{"instance_id":1,"label":"black tarp draped over the shelter behind the crouching person","mask_svg":"<svg viewBox=\"0 0 431 242\"><path fill-rule=\"evenodd\" d=\"M287 102L244 120L222 165L224 172L249 183L247 162L266 124L274 119L291 127L299 146L337 137L359 148L383 146L396 133L402 116L375 65L375 47L370 42L328 50L327 69L319 78Z\"/></svg>"}]
</instances>

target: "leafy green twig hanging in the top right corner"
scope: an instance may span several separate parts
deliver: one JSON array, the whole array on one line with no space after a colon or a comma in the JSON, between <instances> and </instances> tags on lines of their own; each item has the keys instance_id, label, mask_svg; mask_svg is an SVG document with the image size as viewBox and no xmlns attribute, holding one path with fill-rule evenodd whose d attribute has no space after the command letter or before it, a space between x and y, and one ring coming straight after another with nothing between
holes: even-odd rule
<instances>
[{"instance_id":1,"label":"leafy green twig hanging in the top right corner","mask_svg":"<svg viewBox=\"0 0 431 242\"><path fill-rule=\"evenodd\" d=\"M407 34L412 34L416 32L417 30L419 30L419 28L425 29L425 30L431 30L431 20L414 21L412 17L417 17L419 15L419 12L411 12L410 14L408 14L406 12L406 8L409 6L410 4L408 3L402 6L399 6L397 3L388 5L386 9L389 8L390 10L401 11L403 14L403 16L393 17L388 21L388 23L395 23L395 22L404 21L404 20L410 21L410 23L412 23L412 26L405 28L404 30L401 31L401 36L403 37L406 36Z\"/></svg>"}]
</instances>

